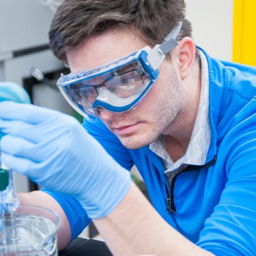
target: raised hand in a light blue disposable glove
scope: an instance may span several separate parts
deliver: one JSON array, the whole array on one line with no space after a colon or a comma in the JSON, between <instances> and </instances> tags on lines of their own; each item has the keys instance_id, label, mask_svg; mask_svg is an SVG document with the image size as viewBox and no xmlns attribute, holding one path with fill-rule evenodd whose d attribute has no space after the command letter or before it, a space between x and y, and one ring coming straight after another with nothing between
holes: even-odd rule
<instances>
[{"instance_id":1,"label":"raised hand in a light blue disposable glove","mask_svg":"<svg viewBox=\"0 0 256 256\"><path fill-rule=\"evenodd\" d=\"M131 178L73 117L34 105L0 102L2 162L57 192L76 197L90 218L104 217Z\"/></svg>"}]
</instances>

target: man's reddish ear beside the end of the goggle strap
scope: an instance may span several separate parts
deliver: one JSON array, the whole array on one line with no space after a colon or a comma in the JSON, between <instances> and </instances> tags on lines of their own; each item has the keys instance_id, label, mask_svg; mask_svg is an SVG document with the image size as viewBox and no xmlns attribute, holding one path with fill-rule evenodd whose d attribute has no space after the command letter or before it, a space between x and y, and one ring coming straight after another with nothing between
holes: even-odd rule
<instances>
[{"instance_id":1,"label":"man's reddish ear beside the end of the goggle strap","mask_svg":"<svg viewBox=\"0 0 256 256\"><path fill-rule=\"evenodd\" d=\"M177 58L179 61L179 72L182 80L187 78L196 56L196 46L192 38L188 36L179 41L179 46L176 47Z\"/></svg>"}]
</instances>

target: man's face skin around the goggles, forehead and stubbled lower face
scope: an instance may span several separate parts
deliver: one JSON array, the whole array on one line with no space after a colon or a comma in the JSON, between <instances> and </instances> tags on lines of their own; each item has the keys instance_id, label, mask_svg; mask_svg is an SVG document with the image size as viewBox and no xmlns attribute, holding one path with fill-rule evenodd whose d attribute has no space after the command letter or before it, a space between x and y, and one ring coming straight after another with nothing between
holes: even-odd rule
<instances>
[{"instance_id":1,"label":"man's face skin around the goggles, forehead and stubbled lower face","mask_svg":"<svg viewBox=\"0 0 256 256\"><path fill-rule=\"evenodd\" d=\"M67 52L71 72L90 69L142 49L147 43L129 30L108 32ZM170 129L183 105L184 89L175 65L164 60L159 79L137 107L124 114L100 111L100 118L127 148L154 142Z\"/></svg>"}]
</instances>

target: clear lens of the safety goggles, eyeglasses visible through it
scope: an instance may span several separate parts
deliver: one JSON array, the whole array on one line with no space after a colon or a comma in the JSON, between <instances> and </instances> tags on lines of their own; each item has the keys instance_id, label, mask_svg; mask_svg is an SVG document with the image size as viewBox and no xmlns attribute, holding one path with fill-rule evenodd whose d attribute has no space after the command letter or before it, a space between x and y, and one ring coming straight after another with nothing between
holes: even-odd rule
<instances>
[{"instance_id":1,"label":"clear lens of the safety goggles, eyeglasses visible through it","mask_svg":"<svg viewBox=\"0 0 256 256\"><path fill-rule=\"evenodd\" d=\"M98 110L97 106L93 107L93 104L101 94L104 94L104 90L108 91L106 102L112 100L111 95L115 97L115 100L116 97L120 100L127 100L137 92L143 91L150 81L151 77L147 75L142 66L134 62L95 77L88 77L88 79L85 77L84 80L61 86L60 90L68 97L69 103L73 107L76 106L76 110L78 107L82 112L95 116Z\"/></svg>"}]
</instances>

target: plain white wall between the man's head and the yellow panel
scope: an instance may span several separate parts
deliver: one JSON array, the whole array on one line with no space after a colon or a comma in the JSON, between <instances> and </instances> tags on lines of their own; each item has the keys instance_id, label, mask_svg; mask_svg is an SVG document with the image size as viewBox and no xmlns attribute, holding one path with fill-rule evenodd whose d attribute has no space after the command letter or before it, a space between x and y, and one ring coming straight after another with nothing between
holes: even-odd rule
<instances>
[{"instance_id":1,"label":"plain white wall between the man's head and the yellow panel","mask_svg":"<svg viewBox=\"0 0 256 256\"><path fill-rule=\"evenodd\" d=\"M233 0L185 0L193 39L209 55L232 60Z\"/></svg>"}]
</instances>

